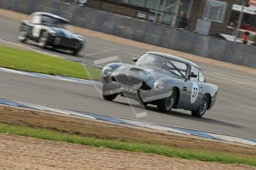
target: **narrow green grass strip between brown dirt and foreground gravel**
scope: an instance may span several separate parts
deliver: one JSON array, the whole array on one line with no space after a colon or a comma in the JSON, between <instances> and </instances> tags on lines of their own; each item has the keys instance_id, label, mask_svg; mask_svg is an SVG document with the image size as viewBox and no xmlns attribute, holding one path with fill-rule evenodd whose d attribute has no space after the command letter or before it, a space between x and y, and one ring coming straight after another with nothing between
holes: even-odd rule
<instances>
[{"instance_id":1,"label":"narrow green grass strip between brown dirt and foreground gravel","mask_svg":"<svg viewBox=\"0 0 256 170\"><path fill-rule=\"evenodd\" d=\"M40 139L56 140L60 142L76 143L87 146L103 147L108 149L160 154L167 157L180 157L188 160L202 160L219 163L240 163L249 166L256 166L256 157L235 157L229 154L219 154L216 152L198 152L188 149L171 148L168 146L159 146L143 143L130 143L118 140L102 140L93 137L70 135L49 129L13 126L5 123L0 123L0 133L4 132L9 132L10 134L13 135L36 137Z\"/></svg>"}]
</instances>

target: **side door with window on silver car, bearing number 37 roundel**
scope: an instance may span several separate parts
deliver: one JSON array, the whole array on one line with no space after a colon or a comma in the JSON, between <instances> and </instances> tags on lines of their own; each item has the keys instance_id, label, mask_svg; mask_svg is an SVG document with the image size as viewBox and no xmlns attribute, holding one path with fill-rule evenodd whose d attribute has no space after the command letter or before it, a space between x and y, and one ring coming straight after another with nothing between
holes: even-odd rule
<instances>
[{"instance_id":1,"label":"side door with window on silver car, bearing number 37 roundel","mask_svg":"<svg viewBox=\"0 0 256 170\"><path fill-rule=\"evenodd\" d=\"M183 109L197 109L200 103L201 84L199 83L199 68L191 67L188 79L183 84Z\"/></svg>"}]
</instances>

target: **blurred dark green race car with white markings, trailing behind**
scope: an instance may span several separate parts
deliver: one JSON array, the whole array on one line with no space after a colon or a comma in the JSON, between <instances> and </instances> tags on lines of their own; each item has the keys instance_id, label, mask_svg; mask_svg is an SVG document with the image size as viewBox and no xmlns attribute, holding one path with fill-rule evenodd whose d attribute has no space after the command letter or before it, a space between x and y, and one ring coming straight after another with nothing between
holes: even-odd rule
<instances>
[{"instance_id":1,"label":"blurred dark green race car with white markings, trailing behind","mask_svg":"<svg viewBox=\"0 0 256 170\"><path fill-rule=\"evenodd\" d=\"M39 47L71 50L76 55L85 45L85 38L70 32L69 23L65 18L50 13L32 13L29 20L22 21L19 41L24 43L30 39L38 42Z\"/></svg>"}]
</instances>

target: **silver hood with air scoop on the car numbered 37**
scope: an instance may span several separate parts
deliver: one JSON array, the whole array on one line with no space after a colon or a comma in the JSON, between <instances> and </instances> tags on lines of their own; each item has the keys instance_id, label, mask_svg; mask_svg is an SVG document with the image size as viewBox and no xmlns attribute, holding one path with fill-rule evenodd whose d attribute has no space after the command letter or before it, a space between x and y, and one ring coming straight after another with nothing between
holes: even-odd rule
<instances>
[{"instance_id":1,"label":"silver hood with air scoop on the car numbered 37","mask_svg":"<svg viewBox=\"0 0 256 170\"><path fill-rule=\"evenodd\" d=\"M119 69L114 72L115 75L128 75L136 78L140 78L145 81L149 86L154 86L155 81L165 80L166 78L179 78L177 75L171 74L171 72L165 71L157 67L150 67L146 65L134 65L134 64L122 64Z\"/></svg>"}]
</instances>

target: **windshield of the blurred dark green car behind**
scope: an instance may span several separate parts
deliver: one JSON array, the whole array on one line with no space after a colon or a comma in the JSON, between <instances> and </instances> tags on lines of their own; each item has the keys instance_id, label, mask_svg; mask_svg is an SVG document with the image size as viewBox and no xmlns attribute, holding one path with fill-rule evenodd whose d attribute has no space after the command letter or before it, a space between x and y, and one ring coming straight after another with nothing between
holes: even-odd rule
<instances>
[{"instance_id":1,"label":"windshield of the blurred dark green car behind","mask_svg":"<svg viewBox=\"0 0 256 170\"><path fill-rule=\"evenodd\" d=\"M42 16L41 22L47 26L59 27L66 30L68 30L69 27L69 23L67 21L60 18L54 18L52 16Z\"/></svg>"}]
</instances>

